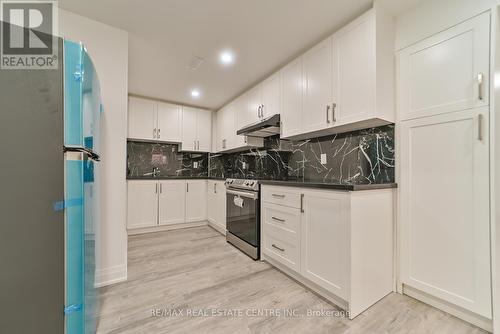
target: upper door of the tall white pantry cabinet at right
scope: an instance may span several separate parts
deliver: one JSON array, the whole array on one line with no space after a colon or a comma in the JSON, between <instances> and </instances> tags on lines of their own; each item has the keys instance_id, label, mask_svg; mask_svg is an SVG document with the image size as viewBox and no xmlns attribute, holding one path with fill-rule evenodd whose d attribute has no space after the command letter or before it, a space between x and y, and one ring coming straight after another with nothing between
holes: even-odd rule
<instances>
[{"instance_id":1,"label":"upper door of the tall white pantry cabinet at right","mask_svg":"<svg viewBox=\"0 0 500 334\"><path fill-rule=\"evenodd\" d=\"M489 31L488 12L402 50L399 118L488 105Z\"/></svg>"}]
</instances>

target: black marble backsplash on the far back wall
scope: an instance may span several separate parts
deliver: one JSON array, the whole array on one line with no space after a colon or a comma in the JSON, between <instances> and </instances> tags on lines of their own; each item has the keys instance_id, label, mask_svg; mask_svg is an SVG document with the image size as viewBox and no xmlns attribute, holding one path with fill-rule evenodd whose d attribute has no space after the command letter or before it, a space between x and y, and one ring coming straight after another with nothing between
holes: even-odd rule
<instances>
[{"instance_id":1,"label":"black marble backsplash on the far back wall","mask_svg":"<svg viewBox=\"0 0 500 334\"><path fill-rule=\"evenodd\" d=\"M178 151L177 144L127 142L127 177L208 177L208 153Z\"/></svg>"}]
</instances>

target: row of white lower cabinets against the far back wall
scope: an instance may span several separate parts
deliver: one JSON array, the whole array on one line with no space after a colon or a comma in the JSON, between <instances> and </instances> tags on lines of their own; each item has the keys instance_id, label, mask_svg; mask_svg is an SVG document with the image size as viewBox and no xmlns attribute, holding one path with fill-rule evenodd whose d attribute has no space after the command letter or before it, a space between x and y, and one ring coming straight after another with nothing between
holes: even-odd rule
<instances>
[{"instance_id":1,"label":"row of white lower cabinets against the far back wall","mask_svg":"<svg viewBox=\"0 0 500 334\"><path fill-rule=\"evenodd\" d=\"M207 220L206 180L129 180L127 190L128 230Z\"/></svg>"}]
</instances>

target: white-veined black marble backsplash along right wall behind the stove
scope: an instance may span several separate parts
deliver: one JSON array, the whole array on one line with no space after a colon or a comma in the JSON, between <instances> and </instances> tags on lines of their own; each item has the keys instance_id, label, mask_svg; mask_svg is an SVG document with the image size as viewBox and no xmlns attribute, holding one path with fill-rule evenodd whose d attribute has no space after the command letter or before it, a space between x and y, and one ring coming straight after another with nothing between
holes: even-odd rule
<instances>
[{"instance_id":1,"label":"white-veined black marble backsplash along right wall behind the stove","mask_svg":"<svg viewBox=\"0 0 500 334\"><path fill-rule=\"evenodd\" d=\"M326 163L321 163L321 154ZM393 183L394 126L290 142L270 137L265 147L211 155L209 175L340 184Z\"/></svg>"}]
</instances>

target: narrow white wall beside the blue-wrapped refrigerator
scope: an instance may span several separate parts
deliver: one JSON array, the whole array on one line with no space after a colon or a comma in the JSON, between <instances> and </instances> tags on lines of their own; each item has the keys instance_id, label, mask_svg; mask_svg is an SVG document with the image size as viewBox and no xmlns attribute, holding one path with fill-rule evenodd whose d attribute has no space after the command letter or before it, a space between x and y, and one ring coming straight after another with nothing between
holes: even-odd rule
<instances>
[{"instance_id":1,"label":"narrow white wall beside the blue-wrapped refrigerator","mask_svg":"<svg viewBox=\"0 0 500 334\"><path fill-rule=\"evenodd\" d=\"M83 42L101 83L104 113L96 284L103 286L127 279L128 33L60 9L59 34Z\"/></svg>"}]
</instances>

